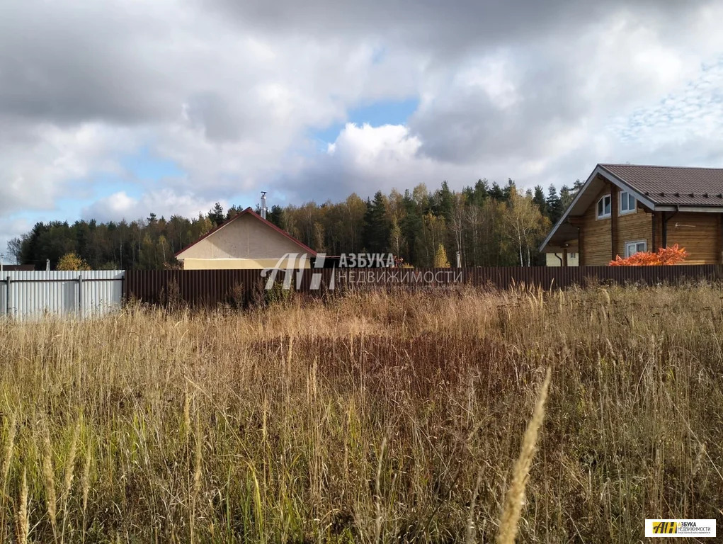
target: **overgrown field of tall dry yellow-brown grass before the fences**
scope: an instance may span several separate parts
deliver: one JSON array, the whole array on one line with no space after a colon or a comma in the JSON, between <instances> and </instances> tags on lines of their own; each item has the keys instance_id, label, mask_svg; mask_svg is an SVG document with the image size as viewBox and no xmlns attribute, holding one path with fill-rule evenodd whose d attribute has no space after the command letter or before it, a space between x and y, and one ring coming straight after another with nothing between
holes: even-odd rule
<instances>
[{"instance_id":1,"label":"overgrown field of tall dry yellow-brown grass before the fences","mask_svg":"<svg viewBox=\"0 0 723 544\"><path fill-rule=\"evenodd\" d=\"M722 323L710 286L1 322L0 540L494 542L548 368L519 542L721 519Z\"/></svg>"}]
</instances>

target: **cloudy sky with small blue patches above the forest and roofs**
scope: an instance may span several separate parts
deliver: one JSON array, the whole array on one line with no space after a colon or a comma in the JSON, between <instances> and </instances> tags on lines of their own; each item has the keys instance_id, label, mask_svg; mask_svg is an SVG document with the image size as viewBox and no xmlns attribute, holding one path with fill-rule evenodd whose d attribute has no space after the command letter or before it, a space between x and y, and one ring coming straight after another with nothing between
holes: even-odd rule
<instances>
[{"instance_id":1,"label":"cloudy sky with small blue patches above the forest and roofs","mask_svg":"<svg viewBox=\"0 0 723 544\"><path fill-rule=\"evenodd\" d=\"M723 166L723 1L0 0L0 252L598 162Z\"/></svg>"}]
</instances>

